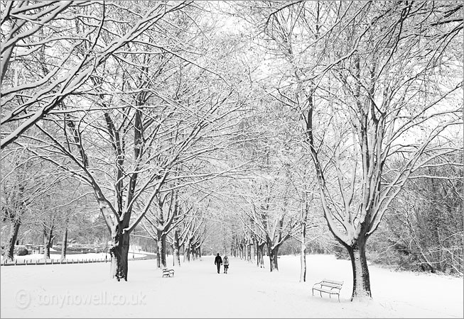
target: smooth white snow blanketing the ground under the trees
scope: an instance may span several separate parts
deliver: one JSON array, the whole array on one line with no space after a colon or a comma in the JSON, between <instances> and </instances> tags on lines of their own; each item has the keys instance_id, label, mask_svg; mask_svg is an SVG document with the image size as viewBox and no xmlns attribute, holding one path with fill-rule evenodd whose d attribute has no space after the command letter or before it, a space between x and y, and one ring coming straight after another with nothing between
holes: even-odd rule
<instances>
[{"instance_id":1,"label":"smooth white snow blanketing the ground under the trees","mask_svg":"<svg viewBox=\"0 0 464 319\"><path fill-rule=\"evenodd\" d=\"M129 281L109 279L109 264L0 267L3 318L463 318L463 278L369 266L372 301L351 302L350 261L308 255L279 258L279 272L230 257L217 274L214 257L182 263L162 277L156 260L130 261ZM172 256L168 258L172 264ZM337 297L311 286L344 281Z\"/></svg>"}]
</instances>

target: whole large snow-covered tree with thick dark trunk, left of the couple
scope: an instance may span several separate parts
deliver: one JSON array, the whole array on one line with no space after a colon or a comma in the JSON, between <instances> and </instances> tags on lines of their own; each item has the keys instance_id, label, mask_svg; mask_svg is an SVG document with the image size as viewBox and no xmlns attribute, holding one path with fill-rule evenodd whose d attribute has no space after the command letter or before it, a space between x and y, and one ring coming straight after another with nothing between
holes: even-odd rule
<instances>
[{"instance_id":1,"label":"whole large snow-covered tree with thick dark trunk, left of the couple","mask_svg":"<svg viewBox=\"0 0 464 319\"><path fill-rule=\"evenodd\" d=\"M127 279L129 235L163 184L195 175L171 172L220 148L215 137L232 125L231 114L242 103L224 74L207 69L216 66L205 58L208 47L201 47L206 33L199 27L207 28L209 21L195 22L203 11L184 2L127 5L125 10L102 6L112 9L103 15L114 17L108 21L122 19L112 28L125 36L108 26L93 39L95 47L111 50L94 61L92 72L81 70L86 78L81 91L73 86L67 99L60 93L59 108L34 122L38 135L11 135L23 147L45 138L51 145L31 152L90 186L111 233L111 274L117 280ZM146 16L139 19L138 11ZM171 32L176 41L167 36Z\"/></svg>"}]
</instances>

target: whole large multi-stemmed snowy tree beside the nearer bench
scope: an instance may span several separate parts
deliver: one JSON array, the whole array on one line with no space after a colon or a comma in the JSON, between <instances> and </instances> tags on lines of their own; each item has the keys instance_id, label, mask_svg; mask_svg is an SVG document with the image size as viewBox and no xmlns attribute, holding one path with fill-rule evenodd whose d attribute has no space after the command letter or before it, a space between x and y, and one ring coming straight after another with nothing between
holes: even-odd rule
<instances>
[{"instance_id":1,"label":"whole large multi-stemmed snowy tree beside the nearer bench","mask_svg":"<svg viewBox=\"0 0 464 319\"><path fill-rule=\"evenodd\" d=\"M304 121L328 227L352 260L352 300L370 298L367 239L420 167L461 148L448 137L462 125L462 4L267 9L251 14L262 18L259 44L277 60L267 91ZM397 157L406 161L393 169Z\"/></svg>"}]
</instances>

